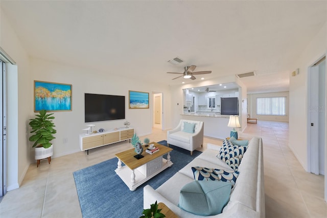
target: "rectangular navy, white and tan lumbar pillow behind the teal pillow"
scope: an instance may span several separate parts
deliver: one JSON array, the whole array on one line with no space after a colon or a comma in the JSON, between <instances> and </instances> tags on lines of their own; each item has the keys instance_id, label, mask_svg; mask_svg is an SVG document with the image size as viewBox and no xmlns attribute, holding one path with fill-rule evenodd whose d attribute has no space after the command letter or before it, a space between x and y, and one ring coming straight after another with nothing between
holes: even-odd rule
<instances>
[{"instance_id":1,"label":"rectangular navy, white and tan lumbar pillow behind the teal pillow","mask_svg":"<svg viewBox=\"0 0 327 218\"><path fill-rule=\"evenodd\" d=\"M223 170L206 167L192 167L194 180L219 180L222 182L231 183L231 187L234 187L237 177L239 176L238 171L234 170Z\"/></svg>"}]
</instances>

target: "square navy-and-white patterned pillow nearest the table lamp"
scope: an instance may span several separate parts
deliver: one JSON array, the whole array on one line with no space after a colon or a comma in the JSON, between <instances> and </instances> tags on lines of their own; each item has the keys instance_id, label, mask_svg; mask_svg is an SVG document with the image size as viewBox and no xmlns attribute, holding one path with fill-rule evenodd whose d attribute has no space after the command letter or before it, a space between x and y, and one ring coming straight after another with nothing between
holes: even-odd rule
<instances>
[{"instance_id":1,"label":"square navy-and-white patterned pillow nearest the table lamp","mask_svg":"<svg viewBox=\"0 0 327 218\"><path fill-rule=\"evenodd\" d=\"M225 139L217 158L225 161L233 170L238 170L245 151L245 146L232 144L229 140Z\"/></svg>"}]
</instances>

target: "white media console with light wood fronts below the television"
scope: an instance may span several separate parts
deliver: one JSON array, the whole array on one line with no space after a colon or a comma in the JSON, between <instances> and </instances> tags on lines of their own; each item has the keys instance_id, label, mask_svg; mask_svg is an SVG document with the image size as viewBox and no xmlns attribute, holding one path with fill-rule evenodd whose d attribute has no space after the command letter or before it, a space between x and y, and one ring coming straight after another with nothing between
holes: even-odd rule
<instances>
[{"instance_id":1,"label":"white media console with light wood fronts below the television","mask_svg":"<svg viewBox=\"0 0 327 218\"><path fill-rule=\"evenodd\" d=\"M134 135L134 128L119 128L116 130L108 130L102 133L80 134L80 148L88 150L104 145L130 140Z\"/></svg>"}]
</instances>

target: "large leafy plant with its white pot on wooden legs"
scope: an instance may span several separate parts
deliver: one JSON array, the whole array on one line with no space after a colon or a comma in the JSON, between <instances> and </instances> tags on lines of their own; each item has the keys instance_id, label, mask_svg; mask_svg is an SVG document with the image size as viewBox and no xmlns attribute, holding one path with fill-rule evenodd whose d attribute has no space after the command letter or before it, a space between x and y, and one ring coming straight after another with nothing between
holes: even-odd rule
<instances>
[{"instance_id":1,"label":"large leafy plant with its white pot on wooden legs","mask_svg":"<svg viewBox=\"0 0 327 218\"><path fill-rule=\"evenodd\" d=\"M34 142L32 147L35 147L35 160L37 161L37 166L39 160L48 158L49 164L51 157L53 155L53 146L50 142L55 139L53 136L57 133L57 130L53 123L55 117L51 116L52 114L46 114L46 110L39 111L39 114L36 114L34 119L30 119L29 125L32 127L31 133L33 135L29 138L29 141Z\"/></svg>"}]
</instances>

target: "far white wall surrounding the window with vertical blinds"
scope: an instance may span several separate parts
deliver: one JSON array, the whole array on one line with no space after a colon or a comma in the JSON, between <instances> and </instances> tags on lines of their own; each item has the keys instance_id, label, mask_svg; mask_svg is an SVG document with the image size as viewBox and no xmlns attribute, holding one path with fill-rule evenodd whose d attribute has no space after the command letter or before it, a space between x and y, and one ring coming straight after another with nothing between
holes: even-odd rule
<instances>
[{"instance_id":1,"label":"far white wall surrounding the window with vertical blinds","mask_svg":"<svg viewBox=\"0 0 327 218\"><path fill-rule=\"evenodd\" d=\"M269 120L269 121L282 121L289 122L289 92L275 92L275 93L258 93L258 94L248 94L249 103L249 115L251 118L258 118L259 120ZM263 116L256 115L256 98L264 97L286 97L286 116Z\"/></svg>"}]
</instances>

